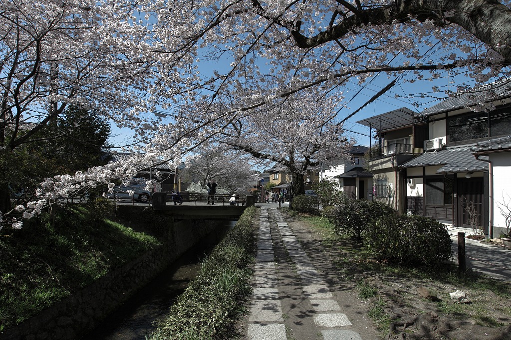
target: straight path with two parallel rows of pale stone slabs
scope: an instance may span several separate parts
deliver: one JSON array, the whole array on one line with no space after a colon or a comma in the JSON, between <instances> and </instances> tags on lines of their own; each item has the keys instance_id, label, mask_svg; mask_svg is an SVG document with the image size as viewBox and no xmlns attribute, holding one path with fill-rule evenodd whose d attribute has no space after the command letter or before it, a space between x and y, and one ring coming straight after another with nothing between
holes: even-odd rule
<instances>
[{"instance_id":1,"label":"straight path with two parallel rows of pale stone slabs","mask_svg":"<svg viewBox=\"0 0 511 340\"><path fill-rule=\"evenodd\" d=\"M278 209L261 208L254 278L249 339L362 340Z\"/></svg>"}]
</instances>

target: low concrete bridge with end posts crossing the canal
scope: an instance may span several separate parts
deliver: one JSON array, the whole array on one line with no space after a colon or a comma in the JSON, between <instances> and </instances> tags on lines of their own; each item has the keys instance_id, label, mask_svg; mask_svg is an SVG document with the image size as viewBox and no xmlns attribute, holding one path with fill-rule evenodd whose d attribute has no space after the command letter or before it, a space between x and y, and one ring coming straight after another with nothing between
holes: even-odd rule
<instances>
[{"instance_id":1,"label":"low concrete bridge with end posts crossing the canal","mask_svg":"<svg viewBox=\"0 0 511 340\"><path fill-rule=\"evenodd\" d=\"M245 205L174 205L167 204L167 194L165 192L155 192L152 195L153 210L159 211L174 218L190 220L237 220L247 207L255 204L255 198L247 195L244 198Z\"/></svg>"}]
</instances>

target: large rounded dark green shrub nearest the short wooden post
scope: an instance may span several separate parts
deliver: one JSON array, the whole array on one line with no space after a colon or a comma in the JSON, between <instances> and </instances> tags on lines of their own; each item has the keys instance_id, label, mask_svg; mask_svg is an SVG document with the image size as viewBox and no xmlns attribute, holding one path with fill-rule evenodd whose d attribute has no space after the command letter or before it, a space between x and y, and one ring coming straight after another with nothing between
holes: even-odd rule
<instances>
[{"instance_id":1,"label":"large rounded dark green shrub nearest the short wooden post","mask_svg":"<svg viewBox=\"0 0 511 340\"><path fill-rule=\"evenodd\" d=\"M373 221L364 243L378 258L411 266L438 266L452 257L445 226L428 217L389 214Z\"/></svg>"}]
</instances>

